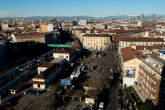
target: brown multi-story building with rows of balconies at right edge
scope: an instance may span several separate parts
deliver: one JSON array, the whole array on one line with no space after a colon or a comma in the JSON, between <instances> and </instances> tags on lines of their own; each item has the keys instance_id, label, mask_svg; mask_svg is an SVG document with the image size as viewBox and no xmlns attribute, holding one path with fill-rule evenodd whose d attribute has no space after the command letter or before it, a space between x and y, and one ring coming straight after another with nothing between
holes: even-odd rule
<instances>
[{"instance_id":1,"label":"brown multi-story building with rows of balconies at right edge","mask_svg":"<svg viewBox=\"0 0 165 110\"><path fill-rule=\"evenodd\" d=\"M160 110L165 106L165 61L160 57L146 57L139 66L135 90L142 101L152 100Z\"/></svg>"}]
</instances>

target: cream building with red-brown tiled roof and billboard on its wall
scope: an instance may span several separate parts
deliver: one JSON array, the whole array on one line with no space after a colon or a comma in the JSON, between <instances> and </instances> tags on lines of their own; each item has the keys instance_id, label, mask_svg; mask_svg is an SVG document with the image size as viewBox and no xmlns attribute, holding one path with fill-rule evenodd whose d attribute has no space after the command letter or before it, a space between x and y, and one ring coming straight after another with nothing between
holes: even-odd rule
<instances>
[{"instance_id":1,"label":"cream building with red-brown tiled roof and billboard on its wall","mask_svg":"<svg viewBox=\"0 0 165 110\"><path fill-rule=\"evenodd\" d=\"M123 69L123 87L133 86L139 77L139 64L142 55L132 47L121 49L122 69Z\"/></svg>"}]
</instances>

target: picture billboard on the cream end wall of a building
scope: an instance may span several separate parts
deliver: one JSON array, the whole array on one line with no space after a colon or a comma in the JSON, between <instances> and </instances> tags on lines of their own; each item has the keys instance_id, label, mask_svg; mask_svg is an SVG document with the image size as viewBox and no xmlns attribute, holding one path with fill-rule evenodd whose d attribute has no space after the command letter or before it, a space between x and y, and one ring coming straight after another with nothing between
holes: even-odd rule
<instances>
[{"instance_id":1,"label":"picture billboard on the cream end wall of a building","mask_svg":"<svg viewBox=\"0 0 165 110\"><path fill-rule=\"evenodd\" d=\"M124 68L124 77L135 77L136 69L133 67Z\"/></svg>"}]
</instances>

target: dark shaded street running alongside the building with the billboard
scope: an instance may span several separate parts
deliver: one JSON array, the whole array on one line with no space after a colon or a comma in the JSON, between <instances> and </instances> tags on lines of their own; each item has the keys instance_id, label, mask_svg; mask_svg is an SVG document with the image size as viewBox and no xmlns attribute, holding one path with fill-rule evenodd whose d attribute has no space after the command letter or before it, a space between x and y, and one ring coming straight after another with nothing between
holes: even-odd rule
<instances>
[{"instance_id":1,"label":"dark shaded street running alongside the building with the billboard","mask_svg":"<svg viewBox=\"0 0 165 110\"><path fill-rule=\"evenodd\" d=\"M121 67L120 67L120 58L118 57L117 49L110 50L109 52L109 68L112 68L113 79L110 81L110 88L107 90L107 102L105 110L120 110L120 104L118 100L118 90L122 89L121 87ZM108 60L107 60L108 61Z\"/></svg>"}]
</instances>

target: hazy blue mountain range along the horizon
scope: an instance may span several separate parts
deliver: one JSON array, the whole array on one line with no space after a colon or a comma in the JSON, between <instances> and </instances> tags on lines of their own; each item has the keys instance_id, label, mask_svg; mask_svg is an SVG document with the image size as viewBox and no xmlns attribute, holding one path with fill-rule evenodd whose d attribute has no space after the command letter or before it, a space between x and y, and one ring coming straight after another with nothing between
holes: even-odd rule
<instances>
[{"instance_id":1,"label":"hazy blue mountain range along the horizon","mask_svg":"<svg viewBox=\"0 0 165 110\"><path fill-rule=\"evenodd\" d=\"M129 15L117 15L117 16L105 16L105 17L92 17L92 16L31 16L31 17L0 17L0 19L62 19L62 20L73 20L78 19L87 19L87 20L107 20L107 19L128 19L128 18L138 18L139 16L129 16ZM155 18L165 18L165 15L146 15L145 19L155 19Z\"/></svg>"}]
</instances>

